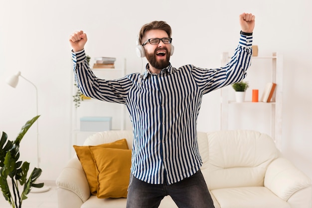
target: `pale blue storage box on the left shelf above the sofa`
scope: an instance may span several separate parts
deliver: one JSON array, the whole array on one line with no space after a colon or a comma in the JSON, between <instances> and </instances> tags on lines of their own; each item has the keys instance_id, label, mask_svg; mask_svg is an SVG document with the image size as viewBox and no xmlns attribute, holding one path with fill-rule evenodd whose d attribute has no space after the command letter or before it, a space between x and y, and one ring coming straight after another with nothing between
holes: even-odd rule
<instances>
[{"instance_id":1,"label":"pale blue storage box on the left shelf above the sofa","mask_svg":"<svg viewBox=\"0 0 312 208\"><path fill-rule=\"evenodd\" d=\"M102 132L112 130L112 117L81 117L80 131Z\"/></svg>"}]
</instances>

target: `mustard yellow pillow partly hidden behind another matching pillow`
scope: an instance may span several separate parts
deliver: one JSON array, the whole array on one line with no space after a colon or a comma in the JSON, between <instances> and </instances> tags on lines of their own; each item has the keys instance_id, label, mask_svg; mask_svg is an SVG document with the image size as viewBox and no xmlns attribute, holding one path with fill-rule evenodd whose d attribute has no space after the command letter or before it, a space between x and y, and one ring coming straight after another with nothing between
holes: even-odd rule
<instances>
[{"instance_id":1,"label":"mustard yellow pillow partly hidden behind another matching pillow","mask_svg":"<svg viewBox=\"0 0 312 208\"><path fill-rule=\"evenodd\" d=\"M90 187L90 192L92 195L97 195L98 189L98 176L96 166L94 164L94 160L92 154L90 152L89 146L73 146L76 154L79 158L79 161L82 165L82 168L86 174L88 184ZM128 144L126 139L121 139L112 143L105 143L97 146L91 147L100 147L100 148L117 148L117 149L125 149L128 150Z\"/></svg>"}]
</instances>

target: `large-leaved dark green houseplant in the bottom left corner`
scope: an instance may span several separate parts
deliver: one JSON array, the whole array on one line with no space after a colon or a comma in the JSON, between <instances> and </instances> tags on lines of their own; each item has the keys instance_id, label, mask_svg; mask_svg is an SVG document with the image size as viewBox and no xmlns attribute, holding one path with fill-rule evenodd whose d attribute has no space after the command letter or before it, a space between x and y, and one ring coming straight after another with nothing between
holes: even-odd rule
<instances>
[{"instance_id":1,"label":"large-leaved dark green houseplant in the bottom left corner","mask_svg":"<svg viewBox=\"0 0 312 208\"><path fill-rule=\"evenodd\" d=\"M21 208L22 201L27 199L32 187L42 188L44 183L35 184L41 175L40 168L34 168L27 179L28 162L18 161L19 145L32 124L39 118L35 116L21 128L15 141L7 140L7 134L2 132L0 139L0 189L3 197L12 208ZM8 183L10 178L11 183ZM10 187L11 186L11 187ZM13 195L12 195L13 193Z\"/></svg>"}]
</instances>

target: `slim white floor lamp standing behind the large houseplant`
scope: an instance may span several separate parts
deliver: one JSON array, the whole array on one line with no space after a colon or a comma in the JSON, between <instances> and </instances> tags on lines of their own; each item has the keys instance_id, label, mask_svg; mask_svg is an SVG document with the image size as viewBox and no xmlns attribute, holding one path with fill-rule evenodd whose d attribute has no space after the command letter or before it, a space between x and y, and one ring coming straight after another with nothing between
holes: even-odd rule
<instances>
[{"instance_id":1,"label":"slim white floor lamp standing behind the large houseplant","mask_svg":"<svg viewBox=\"0 0 312 208\"><path fill-rule=\"evenodd\" d=\"M7 80L6 80L6 83L8 85L10 85L11 87L16 87L16 85L18 84L18 78L19 77L22 77L23 79L25 79L27 82L29 82L32 86L34 86L34 88L36 89L36 115L38 115L38 90L37 90L37 87L36 85L34 85L31 81L29 81L28 79L26 79L25 77L23 77L21 74L20 74L20 71L17 72L17 74L9 77ZM40 162L41 162L41 158L40 158L40 139L39 139L39 125L38 125L38 120L36 121L37 123L37 166L38 168L40 168ZM31 192L32 193L42 193L42 192L47 192L50 190L50 187L49 186L43 186L42 188L35 188L35 187L32 187L31 188Z\"/></svg>"}]
</instances>

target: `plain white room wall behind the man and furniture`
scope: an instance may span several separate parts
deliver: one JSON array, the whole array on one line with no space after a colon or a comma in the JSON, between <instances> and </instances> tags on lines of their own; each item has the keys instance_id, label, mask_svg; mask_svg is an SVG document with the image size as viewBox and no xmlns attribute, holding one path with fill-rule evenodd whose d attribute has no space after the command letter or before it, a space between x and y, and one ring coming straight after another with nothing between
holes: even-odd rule
<instances>
[{"instance_id":1,"label":"plain white room wall behind the man and furniture","mask_svg":"<svg viewBox=\"0 0 312 208\"><path fill-rule=\"evenodd\" d=\"M220 66L223 51L238 43L238 15L256 15L254 44L259 55L284 56L283 153L312 178L312 2L310 0L14 0L0 7L0 131L14 140L35 116L34 88L26 81L13 89L6 77L21 71L38 87L42 180L55 180L69 159L71 54L69 35L88 34L91 57L127 58L127 73L140 72L135 44L140 27L165 20L173 30L171 63L178 67ZM145 65L146 60L143 60ZM118 63L116 63L118 64ZM198 130L220 128L219 91L203 101ZM207 119L208 118L208 119ZM128 127L129 128L129 127ZM21 157L36 164L35 127L21 144Z\"/></svg>"}]
</instances>

